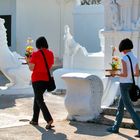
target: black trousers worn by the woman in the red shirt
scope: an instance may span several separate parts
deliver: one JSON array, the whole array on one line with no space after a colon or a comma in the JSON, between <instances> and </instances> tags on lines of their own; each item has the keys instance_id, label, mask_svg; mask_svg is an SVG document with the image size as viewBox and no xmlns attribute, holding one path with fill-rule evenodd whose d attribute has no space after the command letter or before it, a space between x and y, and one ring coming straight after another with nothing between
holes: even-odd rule
<instances>
[{"instance_id":1,"label":"black trousers worn by the woman in the red shirt","mask_svg":"<svg viewBox=\"0 0 140 140\"><path fill-rule=\"evenodd\" d=\"M45 81L32 82L34 90L34 105L33 105L33 118L32 121L38 122L39 112L42 111L43 117L48 123L52 120L52 116L44 102L43 94L46 90Z\"/></svg>"}]
</instances>

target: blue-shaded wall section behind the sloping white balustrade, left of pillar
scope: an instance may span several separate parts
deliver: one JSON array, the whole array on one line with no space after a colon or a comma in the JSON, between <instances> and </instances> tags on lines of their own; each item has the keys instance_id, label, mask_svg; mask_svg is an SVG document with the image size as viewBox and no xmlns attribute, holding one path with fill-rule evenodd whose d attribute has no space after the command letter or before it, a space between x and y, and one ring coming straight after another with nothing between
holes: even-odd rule
<instances>
[{"instance_id":1,"label":"blue-shaded wall section behind the sloping white balustrade, left of pillar","mask_svg":"<svg viewBox=\"0 0 140 140\"><path fill-rule=\"evenodd\" d=\"M104 27L103 5L83 5L74 9L74 38L88 52L101 51L99 30Z\"/></svg>"}]
</instances>

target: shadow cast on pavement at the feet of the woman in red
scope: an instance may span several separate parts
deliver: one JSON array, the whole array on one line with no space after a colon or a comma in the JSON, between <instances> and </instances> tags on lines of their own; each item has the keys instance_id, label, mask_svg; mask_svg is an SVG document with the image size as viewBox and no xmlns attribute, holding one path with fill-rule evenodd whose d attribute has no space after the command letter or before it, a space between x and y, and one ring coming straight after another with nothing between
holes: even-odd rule
<instances>
[{"instance_id":1,"label":"shadow cast on pavement at the feet of the woman in red","mask_svg":"<svg viewBox=\"0 0 140 140\"><path fill-rule=\"evenodd\" d=\"M63 133L55 133L54 129L46 130L40 126L33 126L42 133L41 140L68 140L67 136Z\"/></svg>"}]
</instances>

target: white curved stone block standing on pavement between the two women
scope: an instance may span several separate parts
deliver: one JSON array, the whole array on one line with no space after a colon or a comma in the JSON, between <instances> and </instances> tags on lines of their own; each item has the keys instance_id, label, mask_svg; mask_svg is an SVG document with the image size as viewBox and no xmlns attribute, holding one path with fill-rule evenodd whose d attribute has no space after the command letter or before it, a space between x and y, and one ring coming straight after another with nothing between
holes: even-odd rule
<instances>
[{"instance_id":1,"label":"white curved stone block standing on pavement between the two women","mask_svg":"<svg viewBox=\"0 0 140 140\"><path fill-rule=\"evenodd\" d=\"M67 73L62 75L67 89L65 107L67 119L90 121L98 118L103 96L102 80L89 73Z\"/></svg>"}]
</instances>

